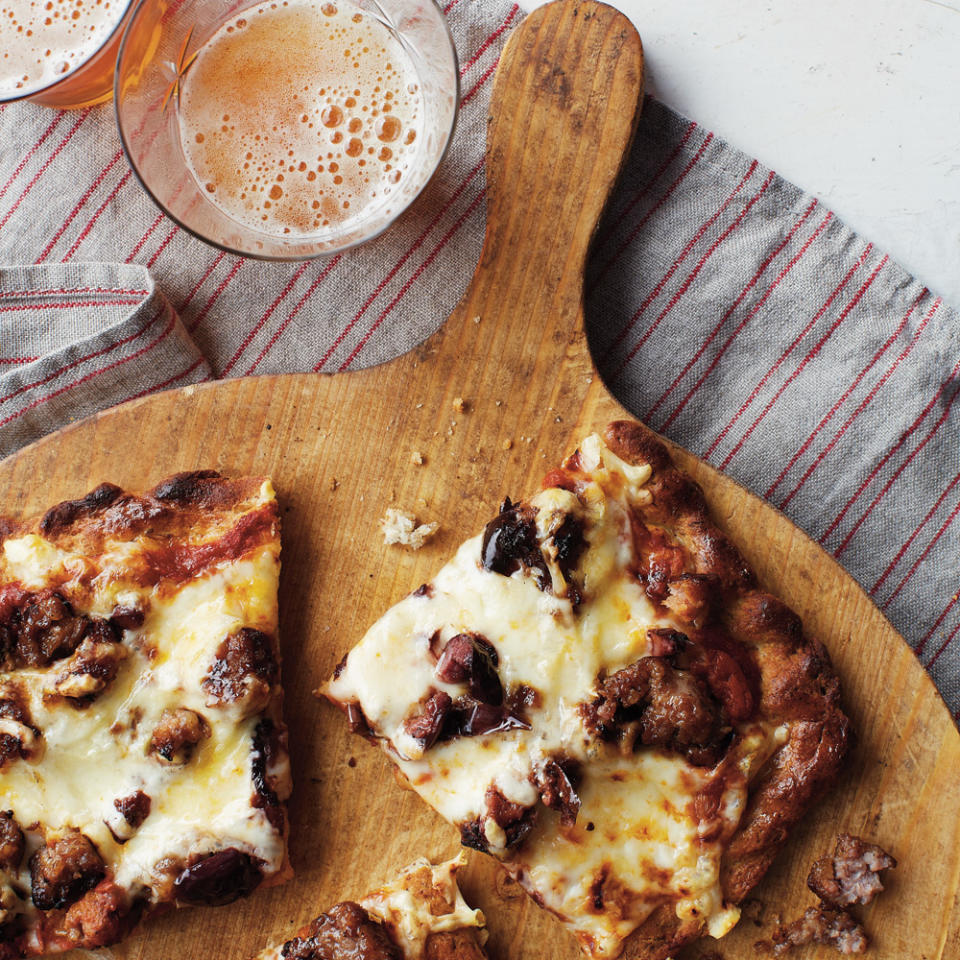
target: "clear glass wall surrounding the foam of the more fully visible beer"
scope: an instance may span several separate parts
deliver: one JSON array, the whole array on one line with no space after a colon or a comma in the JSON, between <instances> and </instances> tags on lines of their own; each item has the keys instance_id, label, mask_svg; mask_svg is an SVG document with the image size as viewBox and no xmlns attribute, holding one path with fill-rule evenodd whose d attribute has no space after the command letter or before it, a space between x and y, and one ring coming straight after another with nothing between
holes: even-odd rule
<instances>
[{"instance_id":1,"label":"clear glass wall surrounding the foam of the more fully visible beer","mask_svg":"<svg viewBox=\"0 0 960 960\"><path fill-rule=\"evenodd\" d=\"M120 48L115 78L115 107L123 146L134 173L157 205L201 240L231 253L264 260L305 260L334 254L385 230L423 191L440 165L453 133L459 100L456 49L443 13L433 0L337 3L342 12L355 7L359 11L355 16L362 12L376 18L402 45L422 91L424 115L403 178L387 195L381 193L376 201L360 205L362 209L350 219L289 235L241 222L215 203L212 195L218 184L200 182L191 170L183 142L183 91L190 89L190 71L198 53L203 55L204 45L218 31L246 23L246 18L238 18L245 11L263 6L262 0L140 0L135 8ZM334 4L323 6L336 9ZM275 66L282 74L283 58L278 59ZM356 66L351 64L352 59L344 60L345 81ZM261 81L251 73L250 84ZM239 99L256 102L256 97ZM248 108L237 103L236 109ZM394 172L393 176L399 174Z\"/></svg>"}]
</instances>

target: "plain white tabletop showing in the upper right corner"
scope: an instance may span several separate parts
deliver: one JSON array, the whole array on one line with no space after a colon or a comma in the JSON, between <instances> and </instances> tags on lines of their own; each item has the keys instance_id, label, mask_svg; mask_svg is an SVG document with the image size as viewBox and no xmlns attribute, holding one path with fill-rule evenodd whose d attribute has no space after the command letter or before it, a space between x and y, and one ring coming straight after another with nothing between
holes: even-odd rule
<instances>
[{"instance_id":1,"label":"plain white tabletop showing in the upper right corner","mask_svg":"<svg viewBox=\"0 0 960 960\"><path fill-rule=\"evenodd\" d=\"M960 0L615 5L643 38L650 93L960 307Z\"/></svg>"}]
</instances>

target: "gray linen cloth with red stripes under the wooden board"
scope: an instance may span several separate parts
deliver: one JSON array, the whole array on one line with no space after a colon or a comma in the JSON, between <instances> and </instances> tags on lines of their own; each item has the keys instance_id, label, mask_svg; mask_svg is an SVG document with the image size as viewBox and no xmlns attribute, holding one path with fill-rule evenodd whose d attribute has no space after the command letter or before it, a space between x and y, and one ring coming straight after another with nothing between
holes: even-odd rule
<instances>
[{"instance_id":1,"label":"gray linen cloth with red stripes under the wooden board","mask_svg":"<svg viewBox=\"0 0 960 960\"><path fill-rule=\"evenodd\" d=\"M0 453L150 390L368 366L436 329L479 254L491 79L521 16L503 0L447 10L463 73L451 155L400 224L326 262L262 264L186 236L133 180L109 108L0 108L0 262L38 265L0 272ZM956 716L956 311L655 101L588 291L591 347L625 405L831 551Z\"/></svg>"}]
</instances>

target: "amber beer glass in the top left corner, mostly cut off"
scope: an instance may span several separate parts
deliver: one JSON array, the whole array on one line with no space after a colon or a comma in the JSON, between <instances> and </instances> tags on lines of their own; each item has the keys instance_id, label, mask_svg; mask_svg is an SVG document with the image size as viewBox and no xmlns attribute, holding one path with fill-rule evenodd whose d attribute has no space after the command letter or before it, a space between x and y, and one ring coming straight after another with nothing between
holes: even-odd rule
<instances>
[{"instance_id":1,"label":"amber beer glass in the top left corner, mostly cut off","mask_svg":"<svg viewBox=\"0 0 960 960\"><path fill-rule=\"evenodd\" d=\"M109 100L132 0L0 0L0 103Z\"/></svg>"}]
</instances>

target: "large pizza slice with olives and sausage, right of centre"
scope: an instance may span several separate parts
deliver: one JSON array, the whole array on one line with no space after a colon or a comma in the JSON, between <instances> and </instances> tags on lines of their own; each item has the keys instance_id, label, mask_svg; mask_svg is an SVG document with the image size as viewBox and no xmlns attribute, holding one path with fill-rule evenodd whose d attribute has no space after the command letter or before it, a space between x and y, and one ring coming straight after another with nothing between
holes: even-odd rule
<instances>
[{"instance_id":1,"label":"large pizza slice with olives and sausage, right of centre","mask_svg":"<svg viewBox=\"0 0 960 960\"><path fill-rule=\"evenodd\" d=\"M849 737L824 648L627 421L505 501L323 692L596 958L728 932Z\"/></svg>"}]
</instances>

